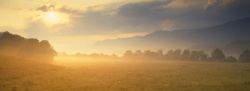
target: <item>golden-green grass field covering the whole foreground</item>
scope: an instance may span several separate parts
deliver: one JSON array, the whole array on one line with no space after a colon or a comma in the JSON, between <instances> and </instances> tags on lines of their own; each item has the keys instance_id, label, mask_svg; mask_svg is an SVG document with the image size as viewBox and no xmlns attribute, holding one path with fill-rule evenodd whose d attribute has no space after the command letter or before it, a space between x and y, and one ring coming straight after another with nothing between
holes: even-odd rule
<instances>
[{"instance_id":1,"label":"golden-green grass field covering the whole foreground","mask_svg":"<svg viewBox=\"0 0 250 91\"><path fill-rule=\"evenodd\" d=\"M249 91L250 63L0 59L1 91Z\"/></svg>"}]
</instances>

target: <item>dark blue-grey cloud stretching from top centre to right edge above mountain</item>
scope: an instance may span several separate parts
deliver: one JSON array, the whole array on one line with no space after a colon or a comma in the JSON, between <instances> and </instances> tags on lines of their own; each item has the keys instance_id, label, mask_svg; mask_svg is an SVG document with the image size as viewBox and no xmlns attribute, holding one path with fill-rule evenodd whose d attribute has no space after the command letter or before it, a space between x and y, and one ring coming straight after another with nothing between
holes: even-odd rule
<instances>
[{"instance_id":1,"label":"dark blue-grey cloud stretching from top centre to right edge above mountain","mask_svg":"<svg viewBox=\"0 0 250 91\"><path fill-rule=\"evenodd\" d=\"M174 20L179 28L198 28L249 17L250 13L249 0L203 0L185 8L164 7L172 2L174 0L129 3L121 6L118 14L134 21L143 20L141 23Z\"/></svg>"}]
</instances>

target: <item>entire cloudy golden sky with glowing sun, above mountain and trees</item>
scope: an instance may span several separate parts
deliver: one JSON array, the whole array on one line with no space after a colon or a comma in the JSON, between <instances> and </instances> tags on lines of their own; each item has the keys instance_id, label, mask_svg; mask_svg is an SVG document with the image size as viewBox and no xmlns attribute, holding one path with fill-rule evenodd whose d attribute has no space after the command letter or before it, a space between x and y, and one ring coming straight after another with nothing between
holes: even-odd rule
<instances>
[{"instance_id":1,"label":"entire cloudy golden sky with glowing sun, above mountain and trees","mask_svg":"<svg viewBox=\"0 0 250 91\"><path fill-rule=\"evenodd\" d=\"M250 0L0 0L0 32L91 53L97 41L223 24L250 16Z\"/></svg>"}]
</instances>

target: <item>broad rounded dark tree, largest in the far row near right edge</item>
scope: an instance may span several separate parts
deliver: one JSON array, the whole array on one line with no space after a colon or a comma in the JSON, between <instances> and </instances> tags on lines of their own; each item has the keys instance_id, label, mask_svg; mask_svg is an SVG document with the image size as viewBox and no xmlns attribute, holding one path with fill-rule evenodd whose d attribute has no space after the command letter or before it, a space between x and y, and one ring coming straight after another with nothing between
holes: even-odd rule
<instances>
[{"instance_id":1,"label":"broad rounded dark tree, largest in the far row near right edge","mask_svg":"<svg viewBox=\"0 0 250 91\"><path fill-rule=\"evenodd\" d=\"M211 53L211 59L214 61L225 61L226 56L225 54L222 52L222 50L216 48L215 50L213 50L213 52Z\"/></svg>"}]
</instances>

